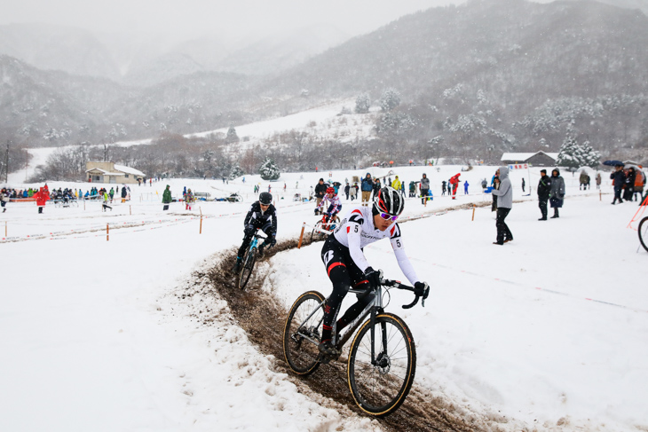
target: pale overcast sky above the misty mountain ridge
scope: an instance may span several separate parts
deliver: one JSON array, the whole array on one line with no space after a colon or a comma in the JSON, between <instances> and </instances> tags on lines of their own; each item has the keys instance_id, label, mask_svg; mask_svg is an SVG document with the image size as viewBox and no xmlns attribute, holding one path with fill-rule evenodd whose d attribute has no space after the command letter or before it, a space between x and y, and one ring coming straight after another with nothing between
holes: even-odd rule
<instances>
[{"instance_id":1,"label":"pale overcast sky above the misty mountain ridge","mask_svg":"<svg viewBox=\"0 0 648 432\"><path fill-rule=\"evenodd\" d=\"M47 22L95 32L269 35L330 24L349 35L402 15L462 0L0 0L0 24Z\"/></svg>"}]
</instances>

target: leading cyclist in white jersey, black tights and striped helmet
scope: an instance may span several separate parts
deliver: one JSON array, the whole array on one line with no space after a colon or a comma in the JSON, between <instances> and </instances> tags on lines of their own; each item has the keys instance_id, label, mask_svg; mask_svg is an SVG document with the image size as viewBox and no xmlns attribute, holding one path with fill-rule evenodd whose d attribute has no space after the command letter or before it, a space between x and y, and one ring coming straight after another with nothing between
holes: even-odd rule
<instances>
[{"instance_id":1,"label":"leading cyclist in white jersey, black tights and striped helmet","mask_svg":"<svg viewBox=\"0 0 648 432\"><path fill-rule=\"evenodd\" d=\"M321 259L326 266L328 278L333 283L333 293L328 297L324 308L324 323L319 347L323 354L328 356L339 354L331 342L331 331L340 305L349 289L366 288L364 293L357 295L358 302L355 302L344 312L344 316L337 320L338 333L357 318L373 300L374 291L370 288L380 284L381 271L375 271L369 265L362 252L363 247L378 240L390 239L400 270L414 285L415 294L423 295L428 287L428 284L416 275L403 247L396 219L404 207L405 199L400 192L391 187L383 187L376 194L373 206L352 208L338 224L336 231L324 242Z\"/></svg>"}]
</instances>

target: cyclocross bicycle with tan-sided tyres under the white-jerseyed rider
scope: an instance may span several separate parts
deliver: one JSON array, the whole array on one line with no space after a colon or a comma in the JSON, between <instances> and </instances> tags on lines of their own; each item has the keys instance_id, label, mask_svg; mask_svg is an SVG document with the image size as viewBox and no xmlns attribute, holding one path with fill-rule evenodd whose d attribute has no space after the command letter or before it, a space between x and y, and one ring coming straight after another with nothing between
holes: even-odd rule
<instances>
[{"instance_id":1,"label":"cyclocross bicycle with tan-sided tyres under the white-jerseyed rider","mask_svg":"<svg viewBox=\"0 0 648 432\"><path fill-rule=\"evenodd\" d=\"M347 360L347 381L355 403L371 415L383 417L396 411L412 387L416 370L416 348L409 328L398 316L384 311L383 287L414 292L397 280L381 278L381 286L374 289L374 300L358 318L340 334L333 325L333 341L338 352L355 333ZM364 290L350 289L350 293L365 294ZM430 293L423 293L423 302ZM403 306L415 306L421 295ZM304 293L290 308L283 329L283 354L290 369L298 375L309 375L320 364L336 358L323 357L319 350L326 299L317 291ZM368 319L366 319L368 317ZM358 332L356 333L356 330Z\"/></svg>"}]
</instances>

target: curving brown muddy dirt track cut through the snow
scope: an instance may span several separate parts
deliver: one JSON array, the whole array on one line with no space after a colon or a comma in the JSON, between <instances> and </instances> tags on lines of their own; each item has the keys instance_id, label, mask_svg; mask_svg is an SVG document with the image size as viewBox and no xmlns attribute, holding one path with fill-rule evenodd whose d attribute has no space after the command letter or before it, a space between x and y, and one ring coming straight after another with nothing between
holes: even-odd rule
<instances>
[{"instance_id":1,"label":"curving brown muddy dirt track cut through the snow","mask_svg":"<svg viewBox=\"0 0 648 432\"><path fill-rule=\"evenodd\" d=\"M308 241L304 241L304 244L307 243ZM262 261L265 262L272 255L296 246L296 240L281 242L277 247L266 252ZM249 340L264 354L273 355L276 359L274 362L276 371L287 373L300 391L319 393L323 397L329 397L347 406L353 412L367 415L361 412L352 400L346 379L344 356L339 362L321 365L316 373L308 377L297 377L289 371L283 357L282 346L283 326L288 311L273 295L256 289L261 286L265 276L260 274L258 267L255 268L247 289L245 291L238 289L236 278L231 272L234 259L235 254L231 251L223 255L213 269L206 273L195 274L197 278L209 278L210 284L209 288L206 288L209 292L194 293L194 295L217 294L225 299L233 318L247 332ZM328 295L328 293L323 294ZM507 422L502 417L494 418L492 414L485 416L470 412L465 407L455 406L443 398L433 397L428 390L416 386L416 382L399 410L377 421L384 430L390 431L503 430L498 426Z\"/></svg>"}]
</instances>

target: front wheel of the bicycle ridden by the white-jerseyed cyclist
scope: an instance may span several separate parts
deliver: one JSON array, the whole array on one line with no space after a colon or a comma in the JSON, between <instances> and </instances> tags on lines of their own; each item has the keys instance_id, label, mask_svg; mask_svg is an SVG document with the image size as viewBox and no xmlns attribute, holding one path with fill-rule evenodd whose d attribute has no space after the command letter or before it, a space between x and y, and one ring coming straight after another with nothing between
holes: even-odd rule
<instances>
[{"instance_id":1,"label":"front wheel of the bicycle ridden by the white-jerseyed cyclist","mask_svg":"<svg viewBox=\"0 0 648 432\"><path fill-rule=\"evenodd\" d=\"M399 317L378 315L373 342L371 321L360 327L351 346L347 376L353 399L362 411L377 417L396 411L412 387L415 370L414 338Z\"/></svg>"}]
</instances>

